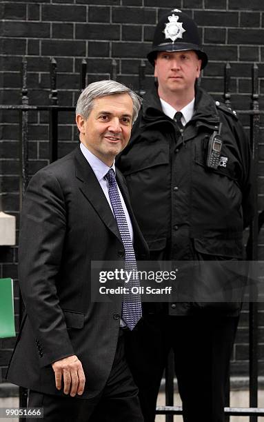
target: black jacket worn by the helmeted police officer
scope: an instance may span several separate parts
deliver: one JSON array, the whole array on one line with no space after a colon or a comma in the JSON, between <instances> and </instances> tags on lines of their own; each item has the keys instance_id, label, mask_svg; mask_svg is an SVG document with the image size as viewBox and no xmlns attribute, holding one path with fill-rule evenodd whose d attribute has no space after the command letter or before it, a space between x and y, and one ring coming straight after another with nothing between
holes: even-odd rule
<instances>
[{"instance_id":1,"label":"black jacket worn by the helmeted police officer","mask_svg":"<svg viewBox=\"0 0 264 422\"><path fill-rule=\"evenodd\" d=\"M222 122L220 165L205 165L205 145ZM180 134L161 108L156 86L143 99L116 165L152 257L242 259L252 217L250 144L235 112L196 88L194 115Z\"/></svg>"}]
</instances>

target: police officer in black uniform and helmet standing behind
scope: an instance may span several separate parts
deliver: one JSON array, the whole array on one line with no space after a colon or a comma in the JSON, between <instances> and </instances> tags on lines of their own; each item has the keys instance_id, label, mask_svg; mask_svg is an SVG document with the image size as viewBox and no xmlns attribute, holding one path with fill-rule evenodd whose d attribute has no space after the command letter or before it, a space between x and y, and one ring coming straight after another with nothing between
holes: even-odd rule
<instances>
[{"instance_id":1,"label":"police officer in black uniform and helmet standing behind","mask_svg":"<svg viewBox=\"0 0 264 422\"><path fill-rule=\"evenodd\" d=\"M117 165L151 259L242 259L242 232L252 214L250 146L236 112L196 83L207 64L196 23L177 9L161 17L148 60L155 82ZM229 283L226 275L222 281ZM145 304L128 335L145 422L154 421L172 348L183 420L224 421L240 308L239 302Z\"/></svg>"}]
</instances>

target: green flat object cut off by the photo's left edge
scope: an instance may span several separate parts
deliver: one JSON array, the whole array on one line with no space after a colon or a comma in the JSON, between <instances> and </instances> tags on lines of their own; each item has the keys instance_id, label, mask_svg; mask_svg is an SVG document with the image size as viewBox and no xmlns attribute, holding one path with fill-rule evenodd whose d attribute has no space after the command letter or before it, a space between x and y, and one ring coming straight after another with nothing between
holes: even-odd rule
<instances>
[{"instance_id":1,"label":"green flat object cut off by the photo's left edge","mask_svg":"<svg viewBox=\"0 0 264 422\"><path fill-rule=\"evenodd\" d=\"M0 279L0 339L16 336L12 279Z\"/></svg>"}]
</instances>

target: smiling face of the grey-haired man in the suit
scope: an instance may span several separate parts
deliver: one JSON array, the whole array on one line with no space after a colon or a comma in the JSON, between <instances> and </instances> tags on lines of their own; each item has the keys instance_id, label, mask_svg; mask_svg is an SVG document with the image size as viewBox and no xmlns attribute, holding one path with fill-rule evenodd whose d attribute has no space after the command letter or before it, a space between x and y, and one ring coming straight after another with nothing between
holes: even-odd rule
<instances>
[{"instance_id":1,"label":"smiling face of the grey-haired man in the suit","mask_svg":"<svg viewBox=\"0 0 264 422\"><path fill-rule=\"evenodd\" d=\"M132 129L133 101L129 94L94 99L87 120L77 114L81 142L103 163L111 166L128 141Z\"/></svg>"}]
</instances>

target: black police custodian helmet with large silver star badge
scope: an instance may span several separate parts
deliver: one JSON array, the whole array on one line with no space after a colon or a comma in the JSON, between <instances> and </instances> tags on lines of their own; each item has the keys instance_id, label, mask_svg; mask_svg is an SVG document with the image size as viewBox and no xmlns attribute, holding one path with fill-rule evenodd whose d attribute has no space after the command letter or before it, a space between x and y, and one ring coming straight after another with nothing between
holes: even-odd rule
<instances>
[{"instance_id":1,"label":"black police custodian helmet with large silver star badge","mask_svg":"<svg viewBox=\"0 0 264 422\"><path fill-rule=\"evenodd\" d=\"M201 48L198 28L192 18L179 9L173 9L163 14L154 32L152 50L148 60L154 66L156 53L159 51L194 50L202 60L201 68L207 65L207 55Z\"/></svg>"}]
</instances>

